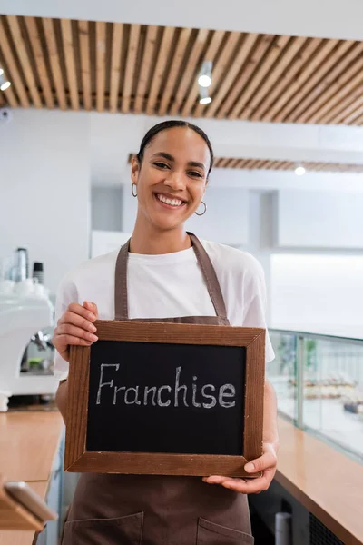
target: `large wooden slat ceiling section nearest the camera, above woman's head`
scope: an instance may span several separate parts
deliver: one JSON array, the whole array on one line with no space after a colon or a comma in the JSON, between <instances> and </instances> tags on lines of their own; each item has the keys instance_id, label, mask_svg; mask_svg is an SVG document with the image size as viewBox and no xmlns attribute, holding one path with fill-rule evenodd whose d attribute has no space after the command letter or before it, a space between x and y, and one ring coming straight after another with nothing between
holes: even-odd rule
<instances>
[{"instance_id":1,"label":"large wooden slat ceiling section nearest the camera, above woman's head","mask_svg":"<svg viewBox=\"0 0 363 545\"><path fill-rule=\"evenodd\" d=\"M0 64L12 107L363 124L362 42L1 15Z\"/></svg>"}]
</instances>

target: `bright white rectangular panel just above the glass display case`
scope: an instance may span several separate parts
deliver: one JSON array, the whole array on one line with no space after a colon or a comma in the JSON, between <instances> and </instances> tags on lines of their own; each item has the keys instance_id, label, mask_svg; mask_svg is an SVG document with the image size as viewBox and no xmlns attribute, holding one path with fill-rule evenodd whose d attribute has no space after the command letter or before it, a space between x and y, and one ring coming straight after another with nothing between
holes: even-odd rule
<instances>
[{"instance_id":1,"label":"bright white rectangular panel just above the glass display case","mask_svg":"<svg viewBox=\"0 0 363 545\"><path fill-rule=\"evenodd\" d=\"M363 338L363 255L274 254L270 323Z\"/></svg>"}]
</instances>

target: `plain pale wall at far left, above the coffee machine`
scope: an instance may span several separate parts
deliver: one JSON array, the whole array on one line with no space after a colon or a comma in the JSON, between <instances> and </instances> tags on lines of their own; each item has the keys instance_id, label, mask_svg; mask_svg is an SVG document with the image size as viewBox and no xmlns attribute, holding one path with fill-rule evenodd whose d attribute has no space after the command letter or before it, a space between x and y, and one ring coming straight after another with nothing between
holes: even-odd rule
<instances>
[{"instance_id":1,"label":"plain pale wall at far left, above the coffee machine","mask_svg":"<svg viewBox=\"0 0 363 545\"><path fill-rule=\"evenodd\" d=\"M87 114L14 110L0 125L0 257L17 246L44 263L53 292L88 257L90 154Z\"/></svg>"}]
</instances>

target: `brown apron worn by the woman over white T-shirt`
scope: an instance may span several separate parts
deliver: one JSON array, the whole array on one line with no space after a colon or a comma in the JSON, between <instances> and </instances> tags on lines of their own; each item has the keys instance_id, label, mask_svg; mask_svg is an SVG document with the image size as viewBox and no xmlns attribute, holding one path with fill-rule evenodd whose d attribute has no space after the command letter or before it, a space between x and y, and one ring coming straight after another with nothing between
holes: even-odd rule
<instances>
[{"instance_id":1,"label":"brown apron worn by the woman over white T-shirt","mask_svg":"<svg viewBox=\"0 0 363 545\"><path fill-rule=\"evenodd\" d=\"M147 322L229 325L211 260L191 233L191 243L216 316ZM116 262L115 319L128 320L129 244ZM64 525L63 545L250 545L247 496L201 477L83 473Z\"/></svg>"}]
</instances>

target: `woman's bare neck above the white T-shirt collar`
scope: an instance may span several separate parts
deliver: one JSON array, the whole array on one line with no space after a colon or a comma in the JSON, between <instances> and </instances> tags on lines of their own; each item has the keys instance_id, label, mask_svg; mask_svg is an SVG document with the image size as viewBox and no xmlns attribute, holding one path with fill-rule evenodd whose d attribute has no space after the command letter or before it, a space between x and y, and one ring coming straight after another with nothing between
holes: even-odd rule
<instances>
[{"instance_id":1,"label":"woman's bare neck above the white T-shirt collar","mask_svg":"<svg viewBox=\"0 0 363 545\"><path fill-rule=\"evenodd\" d=\"M130 252L162 254L182 252L191 247L191 239L182 228L162 231L154 227L145 229L136 222L132 233Z\"/></svg>"}]
</instances>

